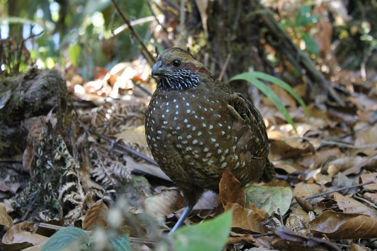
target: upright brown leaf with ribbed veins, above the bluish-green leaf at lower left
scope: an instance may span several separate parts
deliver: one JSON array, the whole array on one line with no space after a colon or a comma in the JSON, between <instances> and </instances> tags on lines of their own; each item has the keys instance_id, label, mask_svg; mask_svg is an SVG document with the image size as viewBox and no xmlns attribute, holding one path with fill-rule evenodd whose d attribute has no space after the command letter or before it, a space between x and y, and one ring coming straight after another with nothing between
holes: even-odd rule
<instances>
[{"instance_id":1,"label":"upright brown leaf with ribbed veins, above the bluish-green leaf at lower left","mask_svg":"<svg viewBox=\"0 0 377 251\"><path fill-rule=\"evenodd\" d=\"M87 211L84 221L83 230L90 231L96 227L107 227L107 213L109 209L103 202L103 199L95 202Z\"/></svg>"}]
</instances>

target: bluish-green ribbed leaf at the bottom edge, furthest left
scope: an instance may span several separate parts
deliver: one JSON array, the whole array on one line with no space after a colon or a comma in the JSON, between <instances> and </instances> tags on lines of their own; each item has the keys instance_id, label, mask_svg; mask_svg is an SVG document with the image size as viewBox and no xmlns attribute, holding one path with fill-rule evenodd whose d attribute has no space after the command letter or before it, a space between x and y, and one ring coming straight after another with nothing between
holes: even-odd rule
<instances>
[{"instance_id":1,"label":"bluish-green ribbed leaf at the bottom edge, furthest left","mask_svg":"<svg viewBox=\"0 0 377 251\"><path fill-rule=\"evenodd\" d=\"M60 251L67 248L84 249L90 243L90 236L84 230L67 227L57 231L48 239L41 251Z\"/></svg>"}]
</instances>

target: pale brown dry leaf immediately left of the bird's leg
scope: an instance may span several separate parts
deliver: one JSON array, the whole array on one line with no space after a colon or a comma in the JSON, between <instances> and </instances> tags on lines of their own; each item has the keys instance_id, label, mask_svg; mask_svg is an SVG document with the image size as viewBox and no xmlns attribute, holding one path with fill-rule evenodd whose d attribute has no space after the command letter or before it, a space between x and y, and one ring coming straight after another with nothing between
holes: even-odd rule
<instances>
[{"instance_id":1,"label":"pale brown dry leaf immediately left of the bird's leg","mask_svg":"<svg viewBox=\"0 0 377 251\"><path fill-rule=\"evenodd\" d=\"M178 189L165 190L153 197L146 198L136 213L146 213L158 217L173 213L184 207L184 200Z\"/></svg>"}]
</instances>

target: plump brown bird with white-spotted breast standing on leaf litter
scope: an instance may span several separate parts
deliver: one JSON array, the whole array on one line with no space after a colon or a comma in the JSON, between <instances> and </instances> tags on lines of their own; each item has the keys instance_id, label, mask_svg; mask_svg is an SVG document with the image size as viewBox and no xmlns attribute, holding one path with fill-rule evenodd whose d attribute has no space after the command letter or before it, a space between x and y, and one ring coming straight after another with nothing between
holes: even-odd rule
<instances>
[{"instance_id":1,"label":"plump brown bird with white-spotted breast standing on leaf litter","mask_svg":"<svg viewBox=\"0 0 377 251\"><path fill-rule=\"evenodd\" d=\"M146 137L162 171L181 189L180 227L204 189L218 190L225 169L242 185L273 180L268 138L259 111L204 64L180 48L162 51L146 115Z\"/></svg>"}]
</instances>

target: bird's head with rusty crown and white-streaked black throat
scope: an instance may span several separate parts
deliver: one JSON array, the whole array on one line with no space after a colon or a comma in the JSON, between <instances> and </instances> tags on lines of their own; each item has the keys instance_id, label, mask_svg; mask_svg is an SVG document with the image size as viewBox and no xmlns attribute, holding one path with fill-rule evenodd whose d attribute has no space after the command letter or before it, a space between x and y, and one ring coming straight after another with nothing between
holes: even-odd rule
<instances>
[{"instance_id":1,"label":"bird's head with rusty crown and white-streaked black throat","mask_svg":"<svg viewBox=\"0 0 377 251\"><path fill-rule=\"evenodd\" d=\"M164 90L195 88L202 78L213 78L204 64L176 47L163 50L158 55L152 76L158 76L157 88Z\"/></svg>"}]
</instances>

